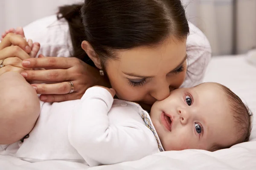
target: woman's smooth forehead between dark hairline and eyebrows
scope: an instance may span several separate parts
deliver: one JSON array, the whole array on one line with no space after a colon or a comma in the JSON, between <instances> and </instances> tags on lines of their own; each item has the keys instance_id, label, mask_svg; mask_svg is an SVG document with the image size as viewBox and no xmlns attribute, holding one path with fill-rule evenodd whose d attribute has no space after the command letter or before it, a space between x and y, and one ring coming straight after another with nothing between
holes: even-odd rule
<instances>
[{"instance_id":1,"label":"woman's smooth forehead between dark hairline and eyebrows","mask_svg":"<svg viewBox=\"0 0 256 170\"><path fill-rule=\"evenodd\" d=\"M154 48L137 47L117 52L119 69L140 74L167 73L186 57L186 42L168 41Z\"/></svg>"}]
</instances>

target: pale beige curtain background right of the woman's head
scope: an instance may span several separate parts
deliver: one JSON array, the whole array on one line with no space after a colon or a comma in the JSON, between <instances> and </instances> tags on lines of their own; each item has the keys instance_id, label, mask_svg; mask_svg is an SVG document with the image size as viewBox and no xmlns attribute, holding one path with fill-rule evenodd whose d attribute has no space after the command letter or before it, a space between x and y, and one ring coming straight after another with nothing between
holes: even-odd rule
<instances>
[{"instance_id":1,"label":"pale beige curtain background right of the woman's head","mask_svg":"<svg viewBox=\"0 0 256 170\"><path fill-rule=\"evenodd\" d=\"M183 0L188 19L208 37L214 55L256 48L256 0Z\"/></svg>"}]
</instances>

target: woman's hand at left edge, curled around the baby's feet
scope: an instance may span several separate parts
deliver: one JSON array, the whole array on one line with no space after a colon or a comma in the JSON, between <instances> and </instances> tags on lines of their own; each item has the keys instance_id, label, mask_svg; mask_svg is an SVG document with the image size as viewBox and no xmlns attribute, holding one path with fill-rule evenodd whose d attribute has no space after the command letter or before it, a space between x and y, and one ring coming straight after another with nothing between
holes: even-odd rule
<instances>
[{"instance_id":1,"label":"woman's hand at left edge, curled around the baby's feet","mask_svg":"<svg viewBox=\"0 0 256 170\"><path fill-rule=\"evenodd\" d=\"M0 75L9 71L22 72L27 69L21 65L23 59L30 58L31 48L20 35L9 33L0 43Z\"/></svg>"}]
</instances>

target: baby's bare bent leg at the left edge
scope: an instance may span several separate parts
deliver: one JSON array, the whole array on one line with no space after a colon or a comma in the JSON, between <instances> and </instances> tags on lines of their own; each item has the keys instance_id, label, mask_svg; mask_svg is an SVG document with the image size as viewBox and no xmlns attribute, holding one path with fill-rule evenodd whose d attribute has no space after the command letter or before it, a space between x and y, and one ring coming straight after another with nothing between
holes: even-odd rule
<instances>
[{"instance_id":1,"label":"baby's bare bent leg at the left edge","mask_svg":"<svg viewBox=\"0 0 256 170\"><path fill-rule=\"evenodd\" d=\"M16 72L0 75L0 144L26 136L40 113L35 89Z\"/></svg>"}]
</instances>

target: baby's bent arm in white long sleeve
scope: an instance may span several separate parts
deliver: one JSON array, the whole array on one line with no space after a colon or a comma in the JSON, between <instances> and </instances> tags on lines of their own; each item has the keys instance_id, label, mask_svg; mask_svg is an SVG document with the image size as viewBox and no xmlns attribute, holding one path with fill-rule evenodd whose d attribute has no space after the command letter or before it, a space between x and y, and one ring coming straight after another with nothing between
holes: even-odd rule
<instances>
[{"instance_id":1,"label":"baby's bent arm in white long sleeve","mask_svg":"<svg viewBox=\"0 0 256 170\"><path fill-rule=\"evenodd\" d=\"M73 112L68 136L85 161L90 166L116 164L156 153L157 142L144 124L129 115L125 115L127 122L109 122L112 104L113 97L106 89L93 87L85 92Z\"/></svg>"}]
</instances>

